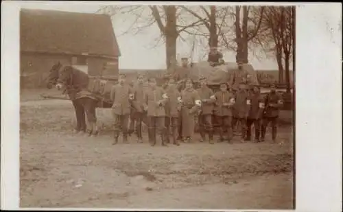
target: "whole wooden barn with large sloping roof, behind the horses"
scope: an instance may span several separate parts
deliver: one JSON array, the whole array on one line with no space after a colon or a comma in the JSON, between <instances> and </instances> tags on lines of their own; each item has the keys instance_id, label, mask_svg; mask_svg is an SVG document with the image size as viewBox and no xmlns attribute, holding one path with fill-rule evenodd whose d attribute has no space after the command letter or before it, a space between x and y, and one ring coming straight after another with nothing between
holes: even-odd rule
<instances>
[{"instance_id":1,"label":"whole wooden barn with large sloping roof, behind the horses","mask_svg":"<svg viewBox=\"0 0 343 212\"><path fill-rule=\"evenodd\" d=\"M45 86L51 66L58 61L89 75L119 73L119 46L105 14L21 10L20 38L21 89Z\"/></svg>"}]
</instances>

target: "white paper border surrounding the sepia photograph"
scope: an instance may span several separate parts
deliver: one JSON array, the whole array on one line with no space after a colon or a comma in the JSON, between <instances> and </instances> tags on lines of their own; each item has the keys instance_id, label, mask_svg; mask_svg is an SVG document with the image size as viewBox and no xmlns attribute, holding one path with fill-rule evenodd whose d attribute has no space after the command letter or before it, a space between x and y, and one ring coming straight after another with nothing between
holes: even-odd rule
<instances>
[{"instance_id":1,"label":"white paper border surrounding the sepia photograph","mask_svg":"<svg viewBox=\"0 0 343 212\"><path fill-rule=\"evenodd\" d=\"M1 209L19 209L19 11L21 5L34 3L65 4L63 1L3 1L1 3ZM296 90L294 141L296 211L342 211L342 3L187 3L185 1L68 1L67 3L69 5L118 3L296 5L296 88L294 89ZM175 211L150 209L150 211L161 210ZM194 210L182 209L182 211Z\"/></svg>"}]
</instances>

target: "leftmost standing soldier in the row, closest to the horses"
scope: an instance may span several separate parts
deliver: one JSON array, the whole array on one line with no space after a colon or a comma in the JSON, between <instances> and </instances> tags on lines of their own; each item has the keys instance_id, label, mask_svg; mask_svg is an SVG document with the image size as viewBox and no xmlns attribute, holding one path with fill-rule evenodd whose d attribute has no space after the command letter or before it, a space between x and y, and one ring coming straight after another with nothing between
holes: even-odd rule
<instances>
[{"instance_id":1,"label":"leftmost standing soldier in the row, closest to the horses","mask_svg":"<svg viewBox=\"0 0 343 212\"><path fill-rule=\"evenodd\" d=\"M128 119L133 91L125 81L126 75L119 75L119 83L113 86L110 91L110 99L113 101L112 113L115 119L115 141L113 144L118 143L120 131L123 132L123 142L128 143Z\"/></svg>"}]
</instances>

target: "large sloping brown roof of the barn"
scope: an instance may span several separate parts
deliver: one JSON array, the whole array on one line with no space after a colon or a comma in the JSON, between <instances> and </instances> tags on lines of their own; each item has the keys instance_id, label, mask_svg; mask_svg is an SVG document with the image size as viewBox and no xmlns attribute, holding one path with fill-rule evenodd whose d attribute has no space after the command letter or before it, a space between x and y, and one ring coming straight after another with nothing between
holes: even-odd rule
<instances>
[{"instance_id":1,"label":"large sloping brown roof of the barn","mask_svg":"<svg viewBox=\"0 0 343 212\"><path fill-rule=\"evenodd\" d=\"M120 56L106 14L21 10L21 51Z\"/></svg>"}]
</instances>

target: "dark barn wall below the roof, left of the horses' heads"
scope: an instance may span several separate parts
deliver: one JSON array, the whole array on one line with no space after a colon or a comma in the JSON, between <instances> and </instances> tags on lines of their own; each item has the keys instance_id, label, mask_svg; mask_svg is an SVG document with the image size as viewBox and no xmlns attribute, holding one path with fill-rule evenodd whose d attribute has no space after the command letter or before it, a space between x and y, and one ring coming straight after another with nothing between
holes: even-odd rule
<instances>
[{"instance_id":1,"label":"dark barn wall below the roof, left of the horses' heads","mask_svg":"<svg viewBox=\"0 0 343 212\"><path fill-rule=\"evenodd\" d=\"M44 81L51 67L60 61L70 64L71 57L63 55L47 55L21 53L21 89L37 89L45 87Z\"/></svg>"}]
</instances>

